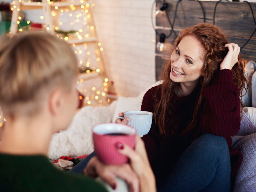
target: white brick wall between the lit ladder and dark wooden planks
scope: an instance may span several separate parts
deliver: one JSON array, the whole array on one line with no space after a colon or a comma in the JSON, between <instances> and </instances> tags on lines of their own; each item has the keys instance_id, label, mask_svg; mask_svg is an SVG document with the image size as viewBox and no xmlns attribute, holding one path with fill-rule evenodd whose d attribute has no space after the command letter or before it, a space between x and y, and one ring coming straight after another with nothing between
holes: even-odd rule
<instances>
[{"instance_id":1,"label":"white brick wall between the lit ladder and dark wooden planks","mask_svg":"<svg viewBox=\"0 0 256 192\"><path fill-rule=\"evenodd\" d=\"M106 73L119 96L137 96L155 82L152 0L92 0Z\"/></svg>"}]
</instances>

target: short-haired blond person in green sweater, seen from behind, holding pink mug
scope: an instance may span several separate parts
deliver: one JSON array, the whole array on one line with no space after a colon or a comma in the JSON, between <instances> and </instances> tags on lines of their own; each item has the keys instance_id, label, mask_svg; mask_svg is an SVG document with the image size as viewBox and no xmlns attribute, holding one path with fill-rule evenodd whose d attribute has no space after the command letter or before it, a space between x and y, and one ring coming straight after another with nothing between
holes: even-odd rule
<instances>
[{"instance_id":1,"label":"short-haired blond person in green sweater, seen from behind, holding pink mug","mask_svg":"<svg viewBox=\"0 0 256 192\"><path fill-rule=\"evenodd\" d=\"M0 106L6 118L0 142L1 191L106 191L90 177L62 173L47 158L52 134L66 129L75 114L76 81L76 56L60 38L45 32L1 38ZM103 173L95 158L94 174L113 188L118 176L130 191L139 191L140 182L154 181L153 174L140 178L135 170L139 164L151 170L142 143L137 141L135 151L125 146L121 152L129 157L132 151L137 160Z\"/></svg>"}]
</instances>

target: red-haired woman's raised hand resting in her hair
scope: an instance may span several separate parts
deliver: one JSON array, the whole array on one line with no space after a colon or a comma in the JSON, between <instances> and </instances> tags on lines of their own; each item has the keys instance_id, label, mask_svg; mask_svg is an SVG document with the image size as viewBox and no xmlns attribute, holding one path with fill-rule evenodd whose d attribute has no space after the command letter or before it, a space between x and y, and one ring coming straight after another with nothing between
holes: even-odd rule
<instances>
[{"instance_id":1,"label":"red-haired woman's raised hand resting in her hair","mask_svg":"<svg viewBox=\"0 0 256 192\"><path fill-rule=\"evenodd\" d=\"M233 68L233 66L238 61L240 47L235 43L227 43L227 44L225 44L225 47L228 48L228 52L220 65L220 70L222 70L222 69L230 69L231 70Z\"/></svg>"}]
</instances>

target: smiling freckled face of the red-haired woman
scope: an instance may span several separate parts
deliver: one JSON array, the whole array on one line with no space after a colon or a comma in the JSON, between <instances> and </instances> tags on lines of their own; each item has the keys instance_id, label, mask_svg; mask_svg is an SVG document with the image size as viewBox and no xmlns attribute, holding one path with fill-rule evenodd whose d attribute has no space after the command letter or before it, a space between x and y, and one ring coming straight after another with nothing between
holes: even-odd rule
<instances>
[{"instance_id":1,"label":"smiling freckled face of the red-haired woman","mask_svg":"<svg viewBox=\"0 0 256 192\"><path fill-rule=\"evenodd\" d=\"M174 82L196 85L202 76L204 49L193 36L181 39L175 51L171 54L170 79Z\"/></svg>"}]
</instances>

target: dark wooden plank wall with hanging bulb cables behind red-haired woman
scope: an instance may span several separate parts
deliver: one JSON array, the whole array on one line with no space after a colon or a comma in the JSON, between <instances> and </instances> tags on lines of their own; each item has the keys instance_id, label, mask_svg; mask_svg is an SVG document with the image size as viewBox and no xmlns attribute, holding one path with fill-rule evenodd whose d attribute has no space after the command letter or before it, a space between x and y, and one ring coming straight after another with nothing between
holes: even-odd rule
<instances>
[{"instance_id":1,"label":"dark wooden plank wall with hanging bulb cables behind red-haired woman","mask_svg":"<svg viewBox=\"0 0 256 192\"><path fill-rule=\"evenodd\" d=\"M170 21L173 22L175 7L178 1L166 1L169 5L167 11ZM201 1L205 11L206 23L213 24L213 13L216 1ZM158 1L156 7L162 4ZM256 17L256 3L250 3ZM255 18L256 19L256 18ZM203 11L198 1L181 1L177 9L177 17L174 24L174 31L179 34L181 29L187 28L191 25L196 25L203 22ZM253 21L250 7L245 2L225 2L222 1L217 5L215 15L215 25L219 26L227 34L230 42L237 43L242 47L247 39L250 37L256 26ZM165 14L158 14L156 16L157 32L170 32L170 24L168 23ZM169 61L170 53L174 49L174 41L176 35L172 35L165 39L167 49L160 52L156 49L156 80L160 79L162 66ZM159 35L156 34L156 44L159 41ZM244 57L248 60L256 61L256 32L251 40L241 50Z\"/></svg>"}]
</instances>

